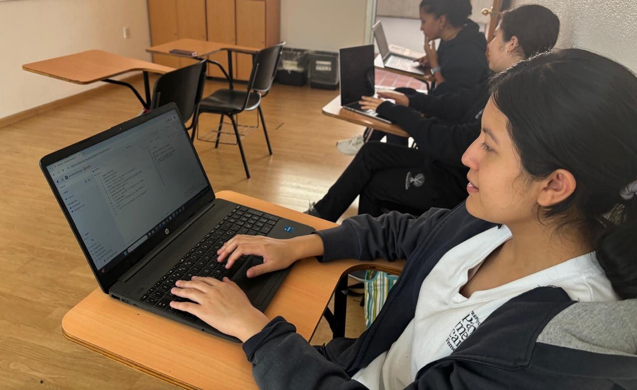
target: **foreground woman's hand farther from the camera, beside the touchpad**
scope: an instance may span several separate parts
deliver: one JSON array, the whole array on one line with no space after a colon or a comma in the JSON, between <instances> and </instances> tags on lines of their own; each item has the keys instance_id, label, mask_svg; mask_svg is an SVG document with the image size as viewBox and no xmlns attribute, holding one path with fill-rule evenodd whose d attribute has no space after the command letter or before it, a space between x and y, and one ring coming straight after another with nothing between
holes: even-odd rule
<instances>
[{"instance_id":1,"label":"foreground woman's hand farther from the camera, beside the touchpad","mask_svg":"<svg viewBox=\"0 0 637 390\"><path fill-rule=\"evenodd\" d=\"M263 263L250 267L247 277L254 278L264 273L283 270L295 261L323 254L323 240L318 235L300 236L279 240L264 236L238 235L231 238L217 251L217 261L227 259L225 268L230 269L241 256L263 257Z\"/></svg>"}]
</instances>

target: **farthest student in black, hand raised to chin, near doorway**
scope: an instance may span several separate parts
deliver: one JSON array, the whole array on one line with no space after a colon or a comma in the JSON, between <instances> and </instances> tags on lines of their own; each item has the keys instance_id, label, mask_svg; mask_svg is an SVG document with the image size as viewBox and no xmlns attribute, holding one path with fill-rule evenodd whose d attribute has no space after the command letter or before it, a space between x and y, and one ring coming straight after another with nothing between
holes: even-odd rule
<instances>
[{"instance_id":1,"label":"farthest student in black, hand raised to chin, near doorway","mask_svg":"<svg viewBox=\"0 0 637 390\"><path fill-rule=\"evenodd\" d=\"M420 31L425 38L426 57L420 62L431 68L436 79L431 95L439 96L470 89L489 75L485 52L487 40L478 24L469 19L469 0L422 0L419 6ZM438 50L434 41L440 39ZM456 118L456 120L461 119ZM367 141L380 141L386 134L373 131ZM406 139L388 135L390 143L407 145ZM363 135L336 143L338 150L354 155L365 142Z\"/></svg>"}]
</instances>

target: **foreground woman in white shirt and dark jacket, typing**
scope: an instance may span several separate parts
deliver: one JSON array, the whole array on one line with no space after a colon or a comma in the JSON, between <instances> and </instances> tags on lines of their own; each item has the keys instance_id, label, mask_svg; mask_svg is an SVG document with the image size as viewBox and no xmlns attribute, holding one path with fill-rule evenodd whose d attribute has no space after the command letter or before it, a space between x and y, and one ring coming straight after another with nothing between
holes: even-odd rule
<instances>
[{"instance_id":1,"label":"foreground woman in white shirt and dark jacket, typing","mask_svg":"<svg viewBox=\"0 0 637 390\"><path fill-rule=\"evenodd\" d=\"M490 92L454 210L219 250L227 266L262 256L251 277L310 256L406 258L359 338L312 347L227 279L178 281L194 303L171 306L240 338L261 389L634 389L637 77L567 49L506 69Z\"/></svg>"}]
</instances>

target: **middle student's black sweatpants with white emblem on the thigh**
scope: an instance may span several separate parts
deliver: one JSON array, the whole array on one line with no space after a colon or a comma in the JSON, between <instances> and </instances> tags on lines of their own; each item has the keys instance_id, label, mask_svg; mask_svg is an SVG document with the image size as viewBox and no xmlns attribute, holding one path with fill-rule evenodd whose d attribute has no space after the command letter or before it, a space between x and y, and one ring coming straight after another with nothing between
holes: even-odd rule
<instances>
[{"instance_id":1,"label":"middle student's black sweatpants with white emblem on the thigh","mask_svg":"<svg viewBox=\"0 0 637 390\"><path fill-rule=\"evenodd\" d=\"M465 186L465 170L440 166L418 149L369 142L315 208L336 222L360 195L359 214L377 217L387 209L419 215L457 205L466 198Z\"/></svg>"}]
</instances>

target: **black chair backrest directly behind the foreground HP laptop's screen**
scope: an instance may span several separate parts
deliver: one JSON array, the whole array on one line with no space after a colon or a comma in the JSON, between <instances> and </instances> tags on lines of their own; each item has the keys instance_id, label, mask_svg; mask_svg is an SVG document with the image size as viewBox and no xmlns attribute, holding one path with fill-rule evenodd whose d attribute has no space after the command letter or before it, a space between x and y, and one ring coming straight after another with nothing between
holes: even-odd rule
<instances>
[{"instance_id":1,"label":"black chair backrest directly behind the foreground HP laptop's screen","mask_svg":"<svg viewBox=\"0 0 637 390\"><path fill-rule=\"evenodd\" d=\"M155 82L150 109L174 102L187 122L201 101L205 81L205 60L161 75Z\"/></svg>"}]
</instances>

